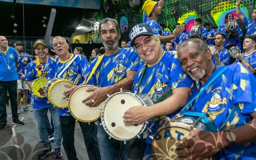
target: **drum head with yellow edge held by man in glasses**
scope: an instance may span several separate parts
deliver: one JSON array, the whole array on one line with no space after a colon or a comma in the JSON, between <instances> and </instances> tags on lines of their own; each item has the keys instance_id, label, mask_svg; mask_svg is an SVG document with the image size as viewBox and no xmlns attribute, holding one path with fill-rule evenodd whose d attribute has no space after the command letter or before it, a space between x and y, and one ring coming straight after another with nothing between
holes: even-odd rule
<instances>
[{"instance_id":1,"label":"drum head with yellow edge held by man in glasses","mask_svg":"<svg viewBox=\"0 0 256 160\"><path fill-rule=\"evenodd\" d=\"M70 84L73 85L71 82L69 81L56 81L56 83L50 87L50 89L48 90L49 94L49 98L50 101L58 106L58 107L66 107L68 106L68 100L67 99L63 99L65 97L64 95L64 91L68 90L69 88L65 87L65 84Z\"/></svg>"}]
</instances>

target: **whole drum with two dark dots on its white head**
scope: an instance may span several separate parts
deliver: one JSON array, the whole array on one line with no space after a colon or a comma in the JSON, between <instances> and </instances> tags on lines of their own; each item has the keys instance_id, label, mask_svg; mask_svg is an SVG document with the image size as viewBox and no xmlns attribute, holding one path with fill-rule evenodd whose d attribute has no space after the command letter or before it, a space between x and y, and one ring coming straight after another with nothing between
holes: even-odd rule
<instances>
[{"instance_id":1,"label":"whole drum with two dark dots on its white head","mask_svg":"<svg viewBox=\"0 0 256 160\"><path fill-rule=\"evenodd\" d=\"M155 118L151 118L146 122L125 125L123 115L126 110L132 106L153 105L153 101L144 94L136 94L127 91L116 92L109 96L101 110L102 126L107 134L120 141L130 140L140 135L148 133L155 122Z\"/></svg>"}]
</instances>

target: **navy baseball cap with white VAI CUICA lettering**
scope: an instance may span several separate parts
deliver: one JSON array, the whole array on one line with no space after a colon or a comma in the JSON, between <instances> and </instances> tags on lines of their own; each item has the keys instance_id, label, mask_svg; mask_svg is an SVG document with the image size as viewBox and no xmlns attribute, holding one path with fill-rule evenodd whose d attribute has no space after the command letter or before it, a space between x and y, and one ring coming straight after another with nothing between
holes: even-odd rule
<instances>
[{"instance_id":1,"label":"navy baseball cap with white VAI CUICA lettering","mask_svg":"<svg viewBox=\"0 0 256 160\"><path fill-rule=\"evenodd\" d=\"M147 23L140 23L133 26L131 32L129 33L129 38L131 40L130 46L133 47L134 41L139 36L152 36L156 35L150 25Z\"/></svg>"}]
</instances>

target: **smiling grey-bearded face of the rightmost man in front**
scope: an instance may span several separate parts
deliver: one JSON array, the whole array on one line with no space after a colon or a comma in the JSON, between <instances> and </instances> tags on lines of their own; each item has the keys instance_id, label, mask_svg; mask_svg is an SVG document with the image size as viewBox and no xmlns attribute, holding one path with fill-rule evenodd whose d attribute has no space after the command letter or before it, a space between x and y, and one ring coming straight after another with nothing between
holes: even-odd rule
<instances>
[{"instance_id":1,"label":"smiling grey-bearded face of the rightmost man in front","mask_svg":"<svg viewBox=\"0 0 256 160\"><path fill-rule=\"evenodd\" d=\"M178 57L183 71L193 80L202 79L210 70L211 51L200 51L197 44L189 42L186 46L179 48Z\"/></svg>"}]
</instances>

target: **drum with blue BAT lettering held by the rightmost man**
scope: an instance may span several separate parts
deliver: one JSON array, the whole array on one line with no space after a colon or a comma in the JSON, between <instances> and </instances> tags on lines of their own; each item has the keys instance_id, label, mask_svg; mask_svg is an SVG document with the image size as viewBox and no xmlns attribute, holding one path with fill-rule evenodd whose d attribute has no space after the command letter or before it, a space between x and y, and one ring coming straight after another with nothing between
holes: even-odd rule
<instances>
[{"instance_id":1,"label":"drum with blue BAT lettering held by the rightmost man","mask_svg":"<svg viewBox=\"0 0 256 160\"><path fill-rule=\"evenodd\" d=\"M206 129L201 117L189 114L177 114L173 119L166 118L165 121L153 137L152 155L155 160L175 159L177 157L175 153L177 142L182 143L182 139L187 137L191 130ZM209 158L204 160L209 160Z\"/></svg>"}]
</instances>

